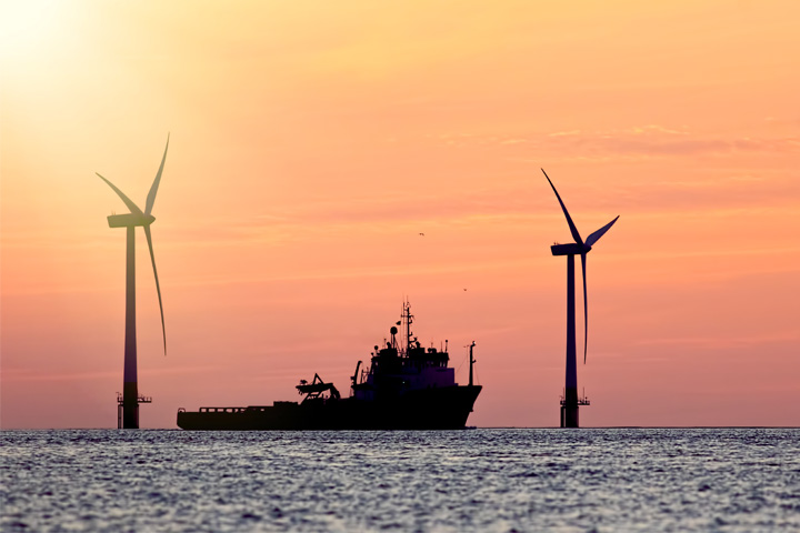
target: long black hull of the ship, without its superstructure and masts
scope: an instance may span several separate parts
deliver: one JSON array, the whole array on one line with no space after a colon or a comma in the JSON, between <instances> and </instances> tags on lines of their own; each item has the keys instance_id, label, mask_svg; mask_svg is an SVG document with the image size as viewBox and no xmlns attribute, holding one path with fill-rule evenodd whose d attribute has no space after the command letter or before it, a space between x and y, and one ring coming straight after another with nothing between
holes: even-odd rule
<instances>
[{"instance_id":1,"label":"long black hull of the ship, without its superstructure and masts","mask_svg":"<svg viewBox=\"0 0 800 533\"><path fill-rule=\"evenodd\" d=\"M248 408L178 412L178 426L203 431L460 430L481 391L453 385L408 391L384 400L307 400Z\"/></svg>"}]
</instances>

